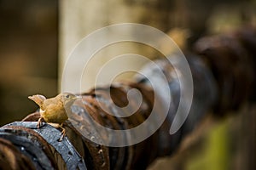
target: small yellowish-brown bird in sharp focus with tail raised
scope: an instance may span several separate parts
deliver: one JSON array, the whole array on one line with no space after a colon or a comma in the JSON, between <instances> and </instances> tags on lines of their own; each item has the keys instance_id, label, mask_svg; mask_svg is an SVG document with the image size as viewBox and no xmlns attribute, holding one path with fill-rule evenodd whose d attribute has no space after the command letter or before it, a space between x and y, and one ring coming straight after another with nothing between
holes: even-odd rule
<instances>
[{"instance_id":1,"label":"small yellowish-brown bird in sharp focus with tail raised","mask_svg":"<svg viewBox=\"0 0 256 170\"><path fill-rule=\"evenodd\" d=\"M32 99L40 107L40 118L38 119L38 128L44 119L53 127L61 128L61 139L66 134L65 128L62 127L63 122L67 121L67 111L71 111L71 105L75 99L79 97L74 94L63 93L58 94L54 98L46 99L44 95L36 94L28 97Z\"/></svg>"}]
</instances>

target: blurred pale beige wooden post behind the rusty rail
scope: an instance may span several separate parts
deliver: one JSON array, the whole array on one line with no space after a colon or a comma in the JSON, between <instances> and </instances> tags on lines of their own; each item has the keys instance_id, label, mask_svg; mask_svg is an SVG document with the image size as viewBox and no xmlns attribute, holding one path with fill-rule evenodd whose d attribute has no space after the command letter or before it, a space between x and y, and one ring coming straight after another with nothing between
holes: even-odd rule
<instances>
[{"instance_id":1,"label":"blurred pale beige wooden post behind the rusty rail","mask_svg":"<svg viewBox=\"0 0 256 170\"><path fill-rule=\"evenodd\" d=\"M129 2L126 0L112 0L108 2L100 0L60 1L59 91L61 91L62 71L68 56L82 38L89 35L92 31L96 31L96 29L119 23L141 23L154 26L161 31L167 31L170 27L166 23L170 22L168 14L170 14L169 8L171 6L172 4L168 3L168 1L157 3L154 0L140 2ZM92 59L88 70L84 71L82 90L85 91L93 87L96 72L109 59L113 59L113 57L119 54L127 53L142 54L152 59L157 56L152 51L153 48L135 43L126 43L125 45L118 43L102 49ZM131 61L131 63L138 69L145 64L137 60ZM132 74L121 75L120 78L131 76ZM73 89L73 87L70 87L70 89Z\"/></svg>"}]
</instances>

